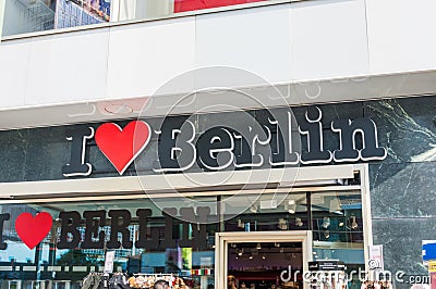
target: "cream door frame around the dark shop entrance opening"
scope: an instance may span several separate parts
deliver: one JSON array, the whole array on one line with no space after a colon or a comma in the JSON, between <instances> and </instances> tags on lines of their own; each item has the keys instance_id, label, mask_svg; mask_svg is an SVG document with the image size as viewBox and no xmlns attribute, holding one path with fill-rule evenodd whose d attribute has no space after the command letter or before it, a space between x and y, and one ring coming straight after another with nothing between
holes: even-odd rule
<instances>
[{"instance_id":1,"label":"cream door frame around the dark shop entrance opening","mask_svg":"<svg viewBox=\"0 0 436 289\"><path fill-rule=\"evenodd\" d=\"M308 262L312 261L312 231L227 231L215 235L215 288L227 287L228 274L228 244L243 242L302 242L303 273L308 271ZM308 284L303 282L303 288Z\"/></svg>"}]
</instances>

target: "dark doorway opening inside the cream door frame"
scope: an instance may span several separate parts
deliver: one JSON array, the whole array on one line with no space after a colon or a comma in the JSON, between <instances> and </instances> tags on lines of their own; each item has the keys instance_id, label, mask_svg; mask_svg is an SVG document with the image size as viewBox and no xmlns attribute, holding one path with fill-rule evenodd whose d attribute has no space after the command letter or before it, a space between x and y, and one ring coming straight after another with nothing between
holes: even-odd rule
<instances>
[{"instance_id":1,"label":"dark doorway opening inside the cream door frame","mask_svg":"<svg viewBox=\"0 0 436 289\"><path fill-rule=\"evenodd\" d=\"M228 243L228 288L303 288L302 242Z\"/></svg>"}]
</instances>

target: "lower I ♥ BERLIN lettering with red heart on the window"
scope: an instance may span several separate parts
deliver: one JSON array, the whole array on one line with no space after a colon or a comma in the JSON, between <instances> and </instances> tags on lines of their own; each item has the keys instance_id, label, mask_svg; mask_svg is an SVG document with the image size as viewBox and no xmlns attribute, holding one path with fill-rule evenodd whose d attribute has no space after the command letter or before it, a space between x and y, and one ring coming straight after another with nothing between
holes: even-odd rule
<instances>
[{"instance_id":1,"label":"lower I \u2665 BERLIN lettering with red heart on the window","mask_svg":"<svg viewBox=\"0 0 436 289\"><path fill-rule=\"evenodd\" d=\"M181 208L179 214L182 219L196 219L197 223L175 221L172 216L178 215L177 209L164 209L165 234L164 241L160 240L159 231L152 228L152 235L147 236L148 218L152 216L150 209L138 209L137 217L137 239L131 240L129 226L132 215L128 210L105 210L85 211L83 216L76 211L59 213L60 233L58 249L136 249L158 250L165 248L194 248L205 250L207 247L206 221L210 215L210 208L202 206L194 211L193 208ZM107 216L110 218L110 237L106 240L106 233L102 230L107 226ZM22 241L29 248L37 247L52 229L52 216L47 212L40 212L33 216L29 213L19 215L15 221L15 229ZM10 219L10 214L0 214L0 250L7 250L8 244L3 242L3 224ZM178 222L178 223L177 223ZM85 225L83 225L85 224ZM174 240L173 226L182 226L182 236ZM80 229L84 228L84 230ZM149 228L148 228L149 230ZM192 231L192 238L190 238ZM119 241L121 235L121 241ZM148 233L149 235L149 233Z\"/></svg>"}]
</instances>

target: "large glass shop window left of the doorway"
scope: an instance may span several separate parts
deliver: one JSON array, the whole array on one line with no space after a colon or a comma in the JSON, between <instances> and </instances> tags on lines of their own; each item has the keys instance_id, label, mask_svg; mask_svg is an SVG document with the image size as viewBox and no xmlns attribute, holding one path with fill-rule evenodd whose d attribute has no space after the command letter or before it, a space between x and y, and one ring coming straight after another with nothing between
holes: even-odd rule
<instances>
[{"instance_id":1,"label":"large glass shop window left of the doorway","mask_svg":"<svg viewBox=\"0 0 436 289\"><path fill-rule=\"evenodd\" d=\"M190 288L213 284L217 224L201 227L166 215L165 210L146 199L0 205L0 214L10 215L3 224L8 248L0 251L0 286L22 289L27 282L49 282L81 288L86 275L105 269L108 252L114 253L113 272L130 277L171 275ZM14 226L25 212L46 212L53 218L50 233L32 250L25 244L28 236L19 236Z\"/></svg>"}]
</instances>

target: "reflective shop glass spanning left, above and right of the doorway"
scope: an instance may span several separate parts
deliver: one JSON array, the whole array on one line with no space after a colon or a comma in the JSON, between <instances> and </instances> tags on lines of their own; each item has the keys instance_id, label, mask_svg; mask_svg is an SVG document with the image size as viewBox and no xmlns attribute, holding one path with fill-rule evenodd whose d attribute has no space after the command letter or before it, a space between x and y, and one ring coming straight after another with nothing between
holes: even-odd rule
<instances>
[{"instance_id":1,"label":"reflective shop glass spanning left, above and right of the doorway","mask_svg":"<svg viewBox=\"0 0 436 289\"><path fill-rule=\"evenodd\" d=\"M58 288L69 286L75 289L89 272L104 269L108 251L114 251L114 271L129 274L174 274L183 277L185 282L209 285L214 282L215 277L215 234L218 231L312 230L314 260L341 260L349 271L364 267L364 224L359 190L296 193L287 191L213 196L191 200L210 204L207 222L203 227L196 222L183 221L181 212L187 206L177 199L169 199L167 202L168 208L173 208L175 212L175 215L170 216L171 219L162 213L165 208L158 208L148 199L2 204L0 214L10 214L10 219L3 224L2 237L8 243L8 249L0 250L0 285L23 288L25 281L47 280L59 282ZM221 208L217 205L218 200ZM141 214L137 213L140 209L149 210L146 212L148 218L145 227L142 223L144 219L140 219ZM198 208L192 209L193 212L199 212ZM126 210L130 214L130 248L109 248L108 242L113 228L110 210ZM64 222L60 214L72 211L80 215L80 242L74 248L60 249ZM86 211L102 211L106 218L101 222L87 222L84 216ZM14 227L17 216L24 212L32 215L47 212L53 218L52 229L33 250L23 243ZM121 226L122 223L119 219L118 225ZM90 238L93 242L98 242L99 234L104 233L104 247L85 248L84 241L89 226L95 227ZM203 229L204 246L201 246L196 238ZM123 235L118 233L120 242L122 237ZM69 241L74 238L73 234L66 237ZM137 243L140 238L146 240L147 244ZM255 243L255 248L259 250L263 244ZM23 284L12 284L19 280Z\"/></svg>"}]
</instances>

